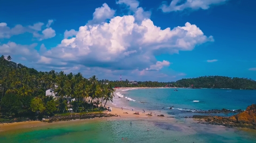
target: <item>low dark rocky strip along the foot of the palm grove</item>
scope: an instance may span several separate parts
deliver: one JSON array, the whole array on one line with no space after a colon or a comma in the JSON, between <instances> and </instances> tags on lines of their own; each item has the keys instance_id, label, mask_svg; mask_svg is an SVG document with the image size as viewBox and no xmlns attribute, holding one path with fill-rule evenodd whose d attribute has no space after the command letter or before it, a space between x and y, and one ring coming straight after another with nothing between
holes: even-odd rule
<instances>
[{"instance_id":1,"label":"low dark rocky strip along the foot of the palm grove","mask_svg":"<svg viewBox=\"0 0 256 143\"><path fill-rule=\"evenodd\" d=\"M67 120L74 120L74 119L88 119L88 118L101 118L101 117L117 117L114 114L107 114L107 113L86 113L86 114L72 114L72 115L55 115L47 119L47 122L58 122L58 121L67 121Z\"/></svg>"}]
</instances>

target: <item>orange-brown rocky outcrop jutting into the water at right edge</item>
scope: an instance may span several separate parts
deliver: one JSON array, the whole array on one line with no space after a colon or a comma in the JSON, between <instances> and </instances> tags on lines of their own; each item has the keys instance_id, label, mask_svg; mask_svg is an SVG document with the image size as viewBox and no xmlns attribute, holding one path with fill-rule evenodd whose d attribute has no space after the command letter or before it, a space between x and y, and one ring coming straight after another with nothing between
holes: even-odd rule
<instances>
[{"instance_id":1,"label":"orange-brown rocky outcrop jutting into the water at right edge","mask_svg":"<svg viewBox=\"0 0 256 143\"><path fill-rule=\"evenodd\" d=\"M196 117L193 117L196 118ZM197 118L200 118L197 116ZM228 127L247 127L256 129L256 105L248 106L244 112L231 117L209 117L201 116L207 124L223 125Z\"/></svg>"}]
</instances>

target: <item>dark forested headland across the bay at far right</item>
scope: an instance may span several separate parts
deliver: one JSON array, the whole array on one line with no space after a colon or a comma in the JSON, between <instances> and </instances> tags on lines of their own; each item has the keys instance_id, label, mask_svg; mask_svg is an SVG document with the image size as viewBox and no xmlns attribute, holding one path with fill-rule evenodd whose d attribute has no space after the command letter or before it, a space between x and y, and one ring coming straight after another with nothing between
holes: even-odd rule
<instances>
[{"instance_id":1,"label":"dark forested headland across the bay at far right","mask_svg":"<svg viewBox=\"0 0 256 143\"><path fill-rule=\"evenodd\" d=\"M256 89L256 81L247 78L231 78L226 76L202 76L176 81L178 87Z\"/></svg>"}]
</instances>

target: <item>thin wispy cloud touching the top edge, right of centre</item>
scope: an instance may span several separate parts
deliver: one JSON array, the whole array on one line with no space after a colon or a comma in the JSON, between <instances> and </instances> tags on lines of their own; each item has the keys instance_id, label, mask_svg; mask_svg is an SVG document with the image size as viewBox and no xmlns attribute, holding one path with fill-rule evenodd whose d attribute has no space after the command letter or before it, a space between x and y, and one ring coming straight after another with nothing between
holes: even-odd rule
<instances>
[{"instance_id":1,"label":"thin wispy cloud touching the top edge, right of centre","mask_svg":"<svg viewBox=\"0 0 256 143\"><path fill-rule=\"evenodd\" d=\"M221 5L229 0L172 0L168 5L167 1L163 1L159 7L162 12L177 12L185 9L198 10L209 9L213 5Z\"/></svg>"}]
</instances>

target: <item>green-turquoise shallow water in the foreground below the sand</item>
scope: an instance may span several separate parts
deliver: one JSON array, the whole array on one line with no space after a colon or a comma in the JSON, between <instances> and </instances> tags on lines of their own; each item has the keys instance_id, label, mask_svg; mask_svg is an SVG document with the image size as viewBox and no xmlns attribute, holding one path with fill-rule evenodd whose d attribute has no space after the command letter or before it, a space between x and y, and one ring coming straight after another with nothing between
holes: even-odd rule
<instances>
[{"instance_id":1,"label":"green-turquoise shallow water in the foreground below the sand","mask_svg":"<svg viewBox=\"0 0 256 143\"><path fill-rule=\"evenodd\" d=\"M245 134L243 131L184 120L175 123L133 120L132 123L130 125L128 120L116 120L52 124L27 131L1 133L0 143L255 143L256 141L255 133ZM122 137L124 140L121 140Z\"/></svg>"}]
</instances>

